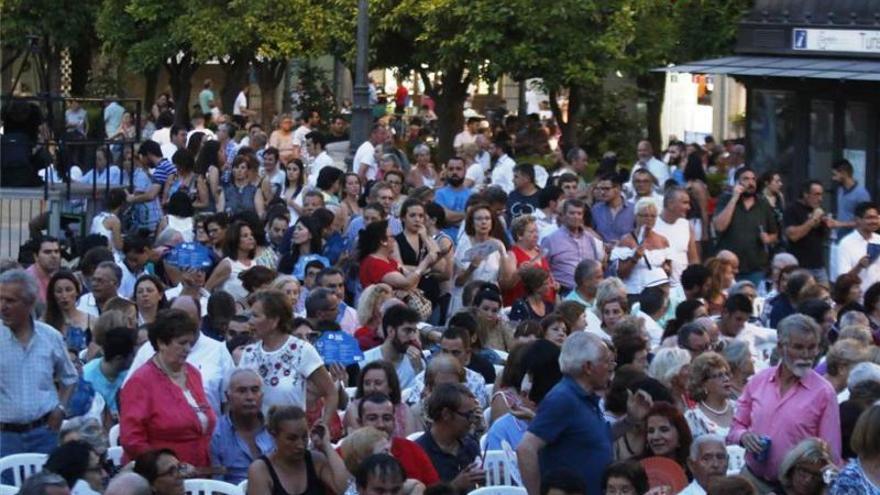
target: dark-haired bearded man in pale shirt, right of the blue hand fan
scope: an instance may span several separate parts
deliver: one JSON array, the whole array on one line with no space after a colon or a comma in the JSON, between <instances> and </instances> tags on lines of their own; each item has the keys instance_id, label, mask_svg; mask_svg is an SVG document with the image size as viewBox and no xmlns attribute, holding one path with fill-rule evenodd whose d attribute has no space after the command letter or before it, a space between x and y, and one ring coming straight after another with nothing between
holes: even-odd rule
<instances>
[{"instance_id":1,"label":"dark-haired bearded man in pale shirt, right of the blue hand fan","mask_svg":"<svg viewBox=\"0 0 880 495\"><path fill-rule=\"evenodd\" d=\"M383 359L394 365L400 388L415 385L416 374L424 369L424 358L419 348L419 314L402 304L394 305L382 316L385 342L364 353L361 366Z\"/></svg>"}]
</instances>

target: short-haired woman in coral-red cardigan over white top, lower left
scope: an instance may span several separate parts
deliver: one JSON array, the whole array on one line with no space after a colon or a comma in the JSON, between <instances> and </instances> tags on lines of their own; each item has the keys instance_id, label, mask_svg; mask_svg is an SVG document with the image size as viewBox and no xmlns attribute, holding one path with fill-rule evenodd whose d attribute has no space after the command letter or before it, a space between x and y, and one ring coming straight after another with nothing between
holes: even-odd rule
<instances>
[{"instance_id":1,"label":"short-haired woman in coral-red cardigan over white top, lower left","mask_svg":"<svg viewBox=\"0 0 880 495\"><path fill-rule=\"evenodd\" d=\"M160 311L149 327L156 350L120 392L120 443L127 459L154 449L171 449L182 462L211 465L209 447L216 416L202 377L186 356L196 322L179 309Z\"/></svg>"}]
</instances>

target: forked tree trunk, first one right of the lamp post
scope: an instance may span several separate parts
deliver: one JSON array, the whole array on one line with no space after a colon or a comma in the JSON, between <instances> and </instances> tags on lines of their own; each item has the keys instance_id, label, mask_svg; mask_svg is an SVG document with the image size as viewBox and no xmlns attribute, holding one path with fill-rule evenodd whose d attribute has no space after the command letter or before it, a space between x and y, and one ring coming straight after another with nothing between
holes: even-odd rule
<instances>
[{"instance_id":1,"label":"forked tree trunk, first one right of the lamp post","mask_svg":"<svg viewBox=\"0 0 880 495\"><path fill-rule=\"evenodd\" d=\"M469 77L464 77L464 68L456 67L443 72L441 86L434 86L430 92L434 111L437 113L437 157L445 163L455 156L452 143L455 135L464 128L464 102L467 99Z\"/></svg>"}]
</instances>

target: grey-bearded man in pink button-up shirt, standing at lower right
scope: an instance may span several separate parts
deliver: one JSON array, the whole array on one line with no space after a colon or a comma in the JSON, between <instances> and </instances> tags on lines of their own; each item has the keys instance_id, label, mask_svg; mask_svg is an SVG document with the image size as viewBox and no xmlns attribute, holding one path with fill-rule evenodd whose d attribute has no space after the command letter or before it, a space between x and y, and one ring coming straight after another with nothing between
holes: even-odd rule
<instances>
[{"instance_id":1,"label":"grey-bearded man in pink button-up shirt, standing at lower right","mask_svg":"<svg viewBox=\"0 0 880 495\"><path fill-rule=\"evenodd\" d=\"M728 444L742 445L746 466L742 474L760 493L781 493L778 473L783 457L801 440L818 437L840 462L840 416L834 388L813 371L821 329L811 318L793 314L779 322L782 361L749 380L737 402ZM766 460L760 456L770 438Z\"/></svg>"}]
</instances>

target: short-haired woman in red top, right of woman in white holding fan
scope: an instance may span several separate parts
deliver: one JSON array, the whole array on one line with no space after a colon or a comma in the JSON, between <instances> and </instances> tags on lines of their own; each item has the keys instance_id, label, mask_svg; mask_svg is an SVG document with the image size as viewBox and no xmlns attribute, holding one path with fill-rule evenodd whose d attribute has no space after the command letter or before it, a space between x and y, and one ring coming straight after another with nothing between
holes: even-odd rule
<instances>
[{"instance_id":1,"label":"short-haired woman in red top, right of woman in white holding fan","mask_svg":"<svg viewBox=\"0 0 880 495\"><path fill-rule=\"evenodd\" d=\"M559 285L550 273L550 264L538 246L538 224L532 215L517 217L511 224L511 232L516 244L504 259L502 266L501 288L504 290L504 305L511 306L517 299L526 296L526 289L519 278L519 269L533 266L550 274L550 288L544 292L544 301L556 302L556 290Z\"/></svg>"}]
</instances>

